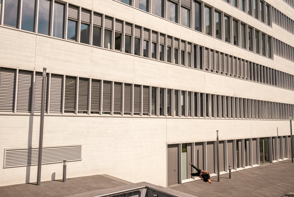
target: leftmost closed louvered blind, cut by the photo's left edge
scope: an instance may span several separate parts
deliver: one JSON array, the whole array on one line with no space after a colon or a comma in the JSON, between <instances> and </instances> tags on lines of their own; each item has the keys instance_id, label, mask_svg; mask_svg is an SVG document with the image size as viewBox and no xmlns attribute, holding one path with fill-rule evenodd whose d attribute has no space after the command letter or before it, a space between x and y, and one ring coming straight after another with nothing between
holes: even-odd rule
<instances>
[{"instance_id":1,"label":"leftmost closed louvered blind, cut by the photo's left edge","mask_svg":"<svg viewBox=\"0 0 294 197\"><path fill-rule=\"evenodd\" d=\"M0 68L0 111L14 111L16 70Z\"/></svg>"}]
</instances>

